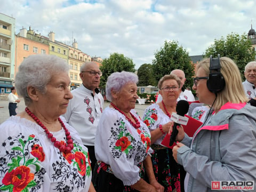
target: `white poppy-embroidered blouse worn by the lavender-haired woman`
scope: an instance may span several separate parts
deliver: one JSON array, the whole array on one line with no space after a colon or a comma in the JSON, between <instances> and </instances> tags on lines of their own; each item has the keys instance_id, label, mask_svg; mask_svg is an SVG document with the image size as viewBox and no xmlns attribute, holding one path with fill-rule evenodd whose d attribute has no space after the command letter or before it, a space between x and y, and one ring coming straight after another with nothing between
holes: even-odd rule
<instances>
[{"instance_id":1,"label":"white poppy-embroidered blouse worn by the lavender-haired woman","mask_svg":"<svg viewBox=\"0 0 256 192\"><path fill-rule=\"evenodd\" d=\"M150 132L134 109L130 111L140 122L135 129L119 111L107 107L100 118L95 138L95 156L110 165L111 172L124 185L131 186L140 180L137 166L153 153Z\"/></svg>"}]
</instances>

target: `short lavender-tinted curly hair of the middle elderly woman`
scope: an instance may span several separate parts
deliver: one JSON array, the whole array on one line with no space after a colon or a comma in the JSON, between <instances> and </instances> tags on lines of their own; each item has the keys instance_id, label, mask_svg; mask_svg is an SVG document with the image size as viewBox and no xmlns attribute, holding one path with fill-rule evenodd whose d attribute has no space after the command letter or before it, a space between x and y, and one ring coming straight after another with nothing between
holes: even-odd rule
<instances>
[{"instance_id":1,"label":"short lavender-tinted curly hair of the middle elderly woman","mask_svg":"<svg viewBox=\"0 0 256 192\"><path fill-rule=\"evenodd\" d=\"M137 84L139 81L138 76L134 73L122 71L111 74L108 77L106 84L106 97L107 100L112 101L111 90L119 92L122 87L127 83Z\"/></svg>"}]
</instances>

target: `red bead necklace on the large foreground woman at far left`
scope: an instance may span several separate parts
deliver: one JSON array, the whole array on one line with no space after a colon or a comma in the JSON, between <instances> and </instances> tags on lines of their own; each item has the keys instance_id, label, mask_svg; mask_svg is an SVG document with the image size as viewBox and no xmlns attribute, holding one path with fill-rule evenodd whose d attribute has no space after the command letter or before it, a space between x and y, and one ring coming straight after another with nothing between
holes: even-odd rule
<instances>
[{"instance_id":1,"label":"red bead necklace on the large foreground woman at far left","mask_svg":"<svg viewBox=\"0 0 256 192\"><path fill-rule=\"evenodd\" d=\"M67 139L67 143L64 144L62 144L60 141L57 141L56 138L53 137L53 134L47 130L46 126L44 126L44 124L27 107L25 108L25 111L35 120L35 122L39 126L41 126L44 129L44 132L46 133L47 137L54 143L54 147L57 147L60 150L60 152L63 152L65 154L71 153L71 150L74 149L73 140L71 139L70 132L68 131L64 123L61 121L60 117L58 118L58 120L61 124L61 127L63 127L63 130L65 131Z\"/></svg>"}]
</instances>

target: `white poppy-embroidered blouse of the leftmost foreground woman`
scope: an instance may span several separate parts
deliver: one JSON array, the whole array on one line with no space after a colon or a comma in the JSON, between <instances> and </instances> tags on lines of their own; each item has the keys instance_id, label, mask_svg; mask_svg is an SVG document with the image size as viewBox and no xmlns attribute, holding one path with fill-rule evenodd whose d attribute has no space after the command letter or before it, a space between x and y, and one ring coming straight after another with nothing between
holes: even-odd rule
<instances>
[{"instance_id":1,"label":"white poppy-embroidered blouse of the leftmost foreground woman","mask_svg":"<svg viewBox=\"0 0 256 192\"><path fill-rule=\"evenodd\" d=\"M11 191L14 185L12 191L35 192L89 190L92 171L88 150L76 130L63 117L60 118L74 143L74 149L68 155L54 147L36 122L11 116L0 125L0 187ZM67 142L63 129L50 133L57 141ZM15 174L21 173L19 182L15 182L14 178L18 178Z\"/></svg>"}]
</instances>

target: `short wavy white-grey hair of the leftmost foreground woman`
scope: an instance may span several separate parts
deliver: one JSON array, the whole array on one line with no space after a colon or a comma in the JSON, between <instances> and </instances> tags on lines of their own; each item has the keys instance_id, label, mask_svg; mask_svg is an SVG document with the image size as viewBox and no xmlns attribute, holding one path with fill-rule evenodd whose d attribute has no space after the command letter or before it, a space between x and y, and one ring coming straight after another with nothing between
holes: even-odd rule
<instances>
[{"instance_id":1,"label":"short wavy white-grey hair of the leftmost foreground woman","mask_svg":"<svg viewBox=\"0 0 256 192\"><path fill-rule=\"evenodd\" d=\"M45 94L46 85L51 81L52 76L63 72L68 74L68 71L68 63L55 55L29 55L19 66L15 87L18 94L24 98L25 105L29 106L32 100L27 92L28 86L33 86Z\"/></svg>"}]
</instances>

